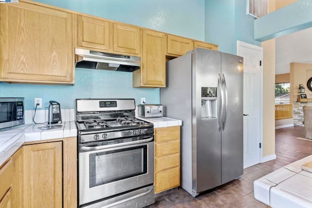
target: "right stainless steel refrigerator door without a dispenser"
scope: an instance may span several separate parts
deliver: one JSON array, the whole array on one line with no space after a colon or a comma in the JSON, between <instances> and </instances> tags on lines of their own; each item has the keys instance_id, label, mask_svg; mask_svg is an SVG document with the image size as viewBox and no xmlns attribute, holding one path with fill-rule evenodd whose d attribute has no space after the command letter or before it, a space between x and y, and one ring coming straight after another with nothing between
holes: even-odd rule
<instances>
[{"instance_id":1,"label":"right stainless steel refrigerator door without a dispenser","mask_svg":"<svg viewBox=\"0 0 312 208\"><path fill-rule=\"evenodd\" d=\"M221 131L221 182L225 184L243 174L243 58L221 53L221 73L227 91L226 121Z\"/></svg>"}]
</instances>

